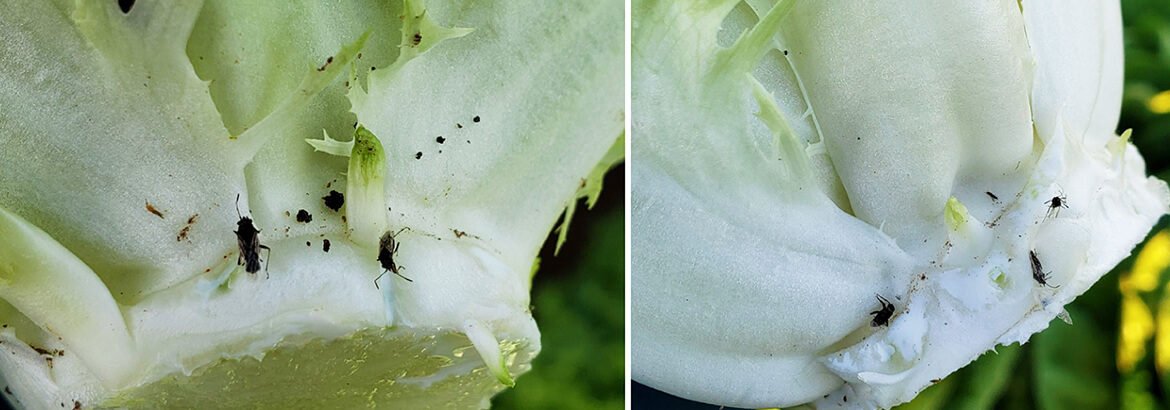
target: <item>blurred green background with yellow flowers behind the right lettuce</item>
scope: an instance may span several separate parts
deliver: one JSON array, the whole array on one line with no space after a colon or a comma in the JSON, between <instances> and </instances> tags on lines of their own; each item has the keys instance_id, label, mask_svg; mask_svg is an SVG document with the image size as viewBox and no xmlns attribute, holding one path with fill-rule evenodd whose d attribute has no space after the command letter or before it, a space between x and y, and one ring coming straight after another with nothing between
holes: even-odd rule
<instances>
[{"instance_id":1,"label":"blurred green background with yellow flowers behind the right lettuce","mask_svg":"<svg viewBox=\"0 0 1170 410\"><path fill-rule=\"evenodd\" d=\"M1122 0L1126 88L1117 132L1170 180L1170 0ZM1024 346L1012 344L899 410L1170 409L1170 217ZM715 409L634 385L635 409Z\"/></svg>"}]
</instances>

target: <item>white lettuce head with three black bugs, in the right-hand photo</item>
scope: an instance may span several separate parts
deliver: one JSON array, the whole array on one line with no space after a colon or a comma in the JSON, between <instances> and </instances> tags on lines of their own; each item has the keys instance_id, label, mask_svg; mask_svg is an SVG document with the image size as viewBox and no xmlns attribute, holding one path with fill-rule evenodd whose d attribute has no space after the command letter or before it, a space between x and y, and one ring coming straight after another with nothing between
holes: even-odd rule
<instances>
[{"instance_id":1,"label":"white lettuce head with three black bugs, in the right-hand photo","mask_svg":"<svg viewBox=\"0 0 1170 410\"><path fill-rule=\"evenodd\" d=\"M633 15L632 357L653 388L907 402L1067 317L1168 211L1114 134L1117 1ZM888 326L870 326L878 295Z\"/></svg>"}]
</instances>

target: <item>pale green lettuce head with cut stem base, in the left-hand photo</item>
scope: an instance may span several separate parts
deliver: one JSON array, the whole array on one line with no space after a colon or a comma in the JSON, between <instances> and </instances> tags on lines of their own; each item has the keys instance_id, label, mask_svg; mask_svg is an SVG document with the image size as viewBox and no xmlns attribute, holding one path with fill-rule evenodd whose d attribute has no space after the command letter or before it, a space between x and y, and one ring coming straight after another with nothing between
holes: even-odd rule
<instances>
[{"instance_id":1,"label":"pale green lettuce head with cut stem base, in the left-hand photo","mask_svg":"<svg viewBox=\"0 0 1170 410\"><path fill-rule=\"evenodd\" d=\"M487 406L541 349L541 245L622 158L620 1L2 8L18 406ZM376 286L399 231L412 281Z\"/></svg>"}]
</instances>

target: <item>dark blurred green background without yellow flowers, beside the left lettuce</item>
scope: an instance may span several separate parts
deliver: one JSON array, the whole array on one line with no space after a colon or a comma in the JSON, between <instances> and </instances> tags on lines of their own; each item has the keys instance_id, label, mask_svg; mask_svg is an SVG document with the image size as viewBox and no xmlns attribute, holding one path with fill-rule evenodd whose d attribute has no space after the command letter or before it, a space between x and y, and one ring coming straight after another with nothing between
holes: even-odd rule
<instances>
[{"instance_id":1,"label":"dark blurred green background without yellow flowers, beside the left lettuce","mask_svg":"<svg viewBox=\"0 0 1170 410\"><path fill-rule=\"evenodd\" d=\"M625 406L625 166L606 173L593 210L579 203L569 239L553 232L532 279L532 315L543 350L493 409Z\"/></svg>"}]
</instances>

